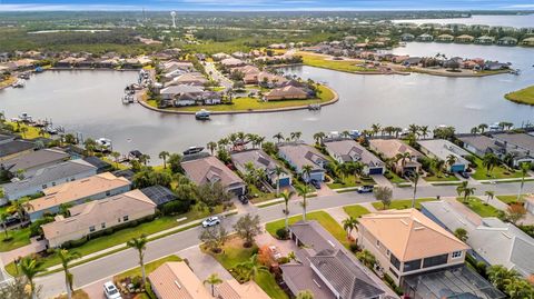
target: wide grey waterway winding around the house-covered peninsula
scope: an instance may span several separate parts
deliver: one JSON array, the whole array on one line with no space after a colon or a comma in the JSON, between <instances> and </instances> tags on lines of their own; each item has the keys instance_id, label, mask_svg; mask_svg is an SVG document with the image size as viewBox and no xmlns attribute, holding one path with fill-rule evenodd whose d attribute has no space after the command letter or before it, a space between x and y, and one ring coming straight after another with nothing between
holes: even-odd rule
<instances>
[{"instance_id":1,"label":"wide grey waterway winding around the house-covered peninsula","mask_svg":"<svg viewBox=\"0 0 534 299\"><path fill-rule=\"evenodd\" d=\"M503 94L534 84L533 49L496 46L408 43L396 53L484 57L510 61L523 70L521 76L444 78L427 74L358 76L312 67L285 69L303 78L327 82L339 93L339 102L320 111L289 111L212 116L197 121L192 116L155 112L139 104L122 104L120 97L136 72L46 71L31 78L23 89L0 91L0 111L9 117L28 112L34 118L51 118L55 126L83 137L106 137L115 150L138 149L157 159L161 150L181 152L235 132L270 137L278 131L301 131L312 141L317 131L369 128L372 123L407 127L409 123L455 126L468 131L481 122L534 122L534 108L520 106Z\"/></svg>"}]
</instances>

